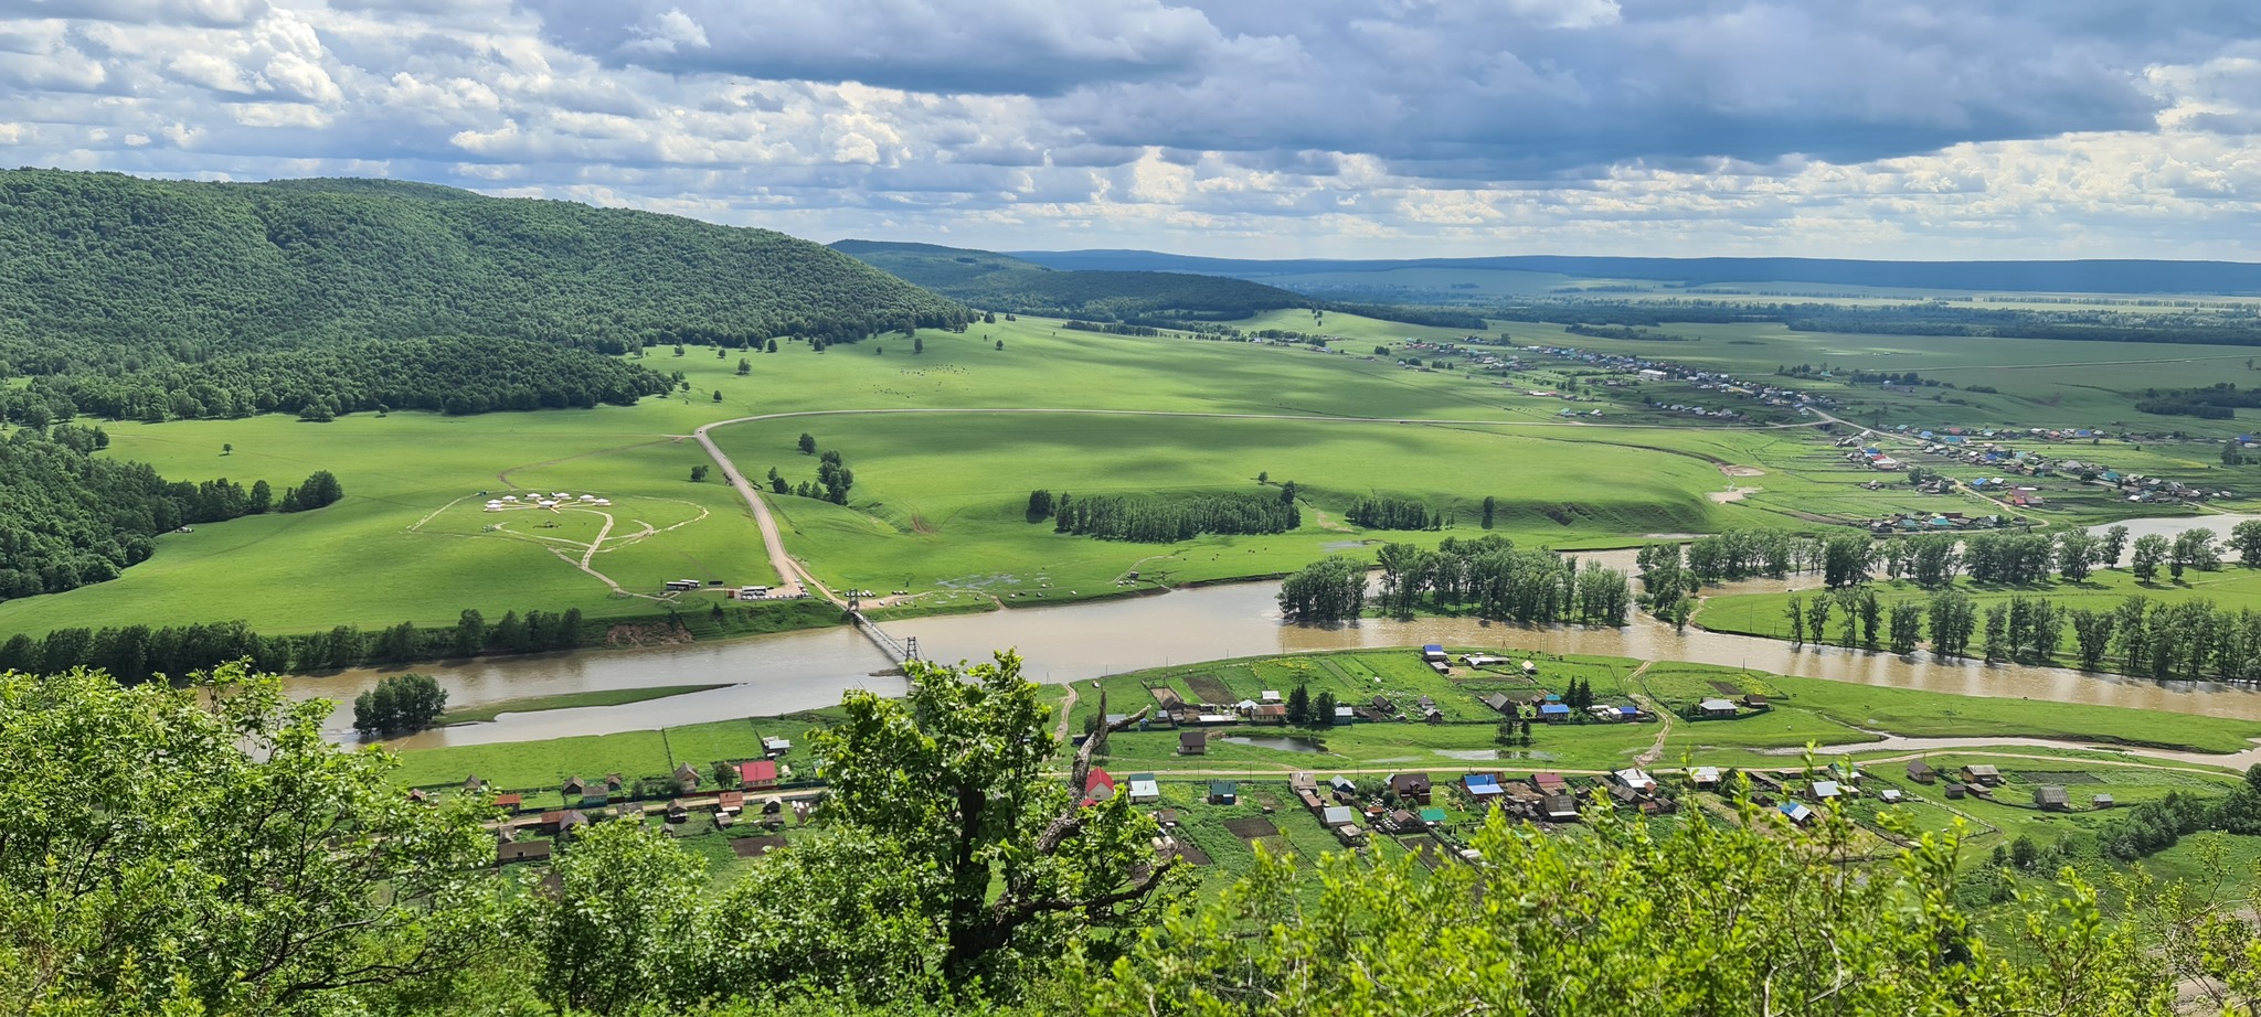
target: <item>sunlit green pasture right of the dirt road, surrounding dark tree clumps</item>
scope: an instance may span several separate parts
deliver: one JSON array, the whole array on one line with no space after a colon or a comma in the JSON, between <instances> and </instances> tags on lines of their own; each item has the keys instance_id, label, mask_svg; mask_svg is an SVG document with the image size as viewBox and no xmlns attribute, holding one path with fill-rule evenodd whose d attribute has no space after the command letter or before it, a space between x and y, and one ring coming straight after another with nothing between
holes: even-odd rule
<instances>
[{"instance_id":1,"label":"sunlit green pasture right of the dirt road, surrounding dark tree clumps","mask_svg":"<svg viewBox=\"0 0 2261 1017\"><path fill-rule=\"evenodd\" d=\"M778 497L773 506L789 527L787 547L821 579L848 588L1092 597L1115 592L1130 570L1169 583L1275 574L1329 551L1370 554L1359 547L1366 540L1443 536L1350 527L1343 511L1366 495L1418 497L1452 511L1458 524L1449 533L1463 538L1483 533L1481 502L1497 497L1497 531L1526 542L1626 542L1714 529L1730 515L1703 495L1725 488L1703 459L1485 427L889 414L733 425L717 432L717 443L751 477L778 468L798 481L816 466L794 450L803 429L855 470L850 506L805 497ZM1054 533L1049 522L1026 520L1033 488L1076 497L1273 497L1284 481L1298 486L1305 522L1280 536L1137 545Z\"/></svg>"}]
</instances>

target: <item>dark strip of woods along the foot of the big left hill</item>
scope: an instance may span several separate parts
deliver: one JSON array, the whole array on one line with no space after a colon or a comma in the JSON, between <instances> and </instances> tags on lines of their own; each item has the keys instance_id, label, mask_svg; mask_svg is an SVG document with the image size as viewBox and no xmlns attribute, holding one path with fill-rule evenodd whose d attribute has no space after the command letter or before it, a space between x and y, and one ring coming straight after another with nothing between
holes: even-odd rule
<instances>
[{"instance_id":1,"label":"dark strip of woods along the foot of the big left hill","mask_svg":"<svg viewBox=\"0 0 2261 1017\"><path fill-rule=\"evenodd\" d=\"M95 414L115 420L199 420L253 414L432 409L563 409L633 405L674 380L597 353L522 339L396 339L237 353L199 364L34 375L7 393L14 423L38 427Z\"/></svg>"}]
</instances>

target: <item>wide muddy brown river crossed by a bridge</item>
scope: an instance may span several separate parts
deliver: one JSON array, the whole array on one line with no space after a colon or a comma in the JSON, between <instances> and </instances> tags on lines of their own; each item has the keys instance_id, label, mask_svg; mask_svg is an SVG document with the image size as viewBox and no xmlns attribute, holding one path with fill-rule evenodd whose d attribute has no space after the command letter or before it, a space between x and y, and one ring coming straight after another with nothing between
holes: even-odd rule
<instances>
[{"instance_id":1,"label":"wide muddy brown river crossed by a bridge","mask_svg":"<svg viewBox=\"0 0 2261 1017\"><path fill-rule=\"evenodd\" d=\"M1630 551L1594 558L1630 565ZM1782 583L1764 581L1745 588L1782 588ZM2243 687L2152 683L2053 667L1987 667L1960 658L1933 660L1929 653L1897 658L1836 646L1791 646L1779 640L1696 628L1673 633L1671 626L1641 615L1626 628L1524 628L1476 619L1366 619L1339 628L1300 628L1280 624L1277 592L1280 583L1230 583L1158 597L886 621L884 628L895 637L918 637L920 655L927 660L986 660L993 649L1013 646L1026 660L1022 673L1047 683L1196 660L1440 642L1533 653L1693 660L1960 696L2017 696L2261 721L2261 694ZM418 671L439 678L448 687L448 703L459 707L586 689L733 685L613 707L502 714L491 723L436 728L396 739L393 746L527 741L782 714L839 703L841 692L857 687L898 692L902 678L884 673L889 664L884 653L850 628L642 651L425 664ZM301 676L287 683L294 696L335 698L339 712L332 714L330 730L350 741L353 696L382 673L389 671Z\"/></svg>"}]
</instances>

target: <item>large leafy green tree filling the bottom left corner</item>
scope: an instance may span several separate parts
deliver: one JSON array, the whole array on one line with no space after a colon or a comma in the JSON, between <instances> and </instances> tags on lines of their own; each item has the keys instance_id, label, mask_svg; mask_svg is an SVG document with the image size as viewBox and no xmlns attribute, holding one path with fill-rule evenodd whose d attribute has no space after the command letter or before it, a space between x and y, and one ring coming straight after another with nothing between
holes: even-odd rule
<instances>
[{"instance_id":1,"label":"large leafy green tree filling the bottom left corner","mask_svg":"<svg viewBox=\"0 0 2261 1017\"><path fill-rule=\"evenodd\" d=\"M412 802L228 664L0 673L0 1012L298 1015L493 945L484 802Z\"/></svg>"}]
</instances>

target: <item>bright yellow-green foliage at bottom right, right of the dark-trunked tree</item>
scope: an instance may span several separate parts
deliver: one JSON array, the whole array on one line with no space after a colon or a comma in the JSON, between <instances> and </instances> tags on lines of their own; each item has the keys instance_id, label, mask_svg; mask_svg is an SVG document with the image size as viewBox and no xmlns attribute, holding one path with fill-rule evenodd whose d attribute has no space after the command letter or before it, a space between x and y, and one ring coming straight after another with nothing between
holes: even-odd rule
<instances>
[{"instance_id":1,"label":"bright yellow-green foliage at bottom right, right of the dark-trunked tree","mask_svg":"<svg viewBox=\"0 0 2261 1017\"><path fill-rule=\"evenodd\" d=\"M1259 852L1112 967L1067 967L1060 994L1092 1015L2173 1012L2157 954L2071 875L2021 897L1996 949L1954 902L1954 836L1852 868L1836 814L1804 832L1750 805L1736 823L1585 818L1551 836L1495 814L1479 859L1436 872Z\"/></svg>"}]
</instances>

